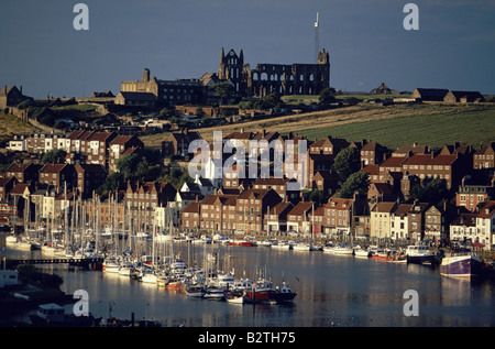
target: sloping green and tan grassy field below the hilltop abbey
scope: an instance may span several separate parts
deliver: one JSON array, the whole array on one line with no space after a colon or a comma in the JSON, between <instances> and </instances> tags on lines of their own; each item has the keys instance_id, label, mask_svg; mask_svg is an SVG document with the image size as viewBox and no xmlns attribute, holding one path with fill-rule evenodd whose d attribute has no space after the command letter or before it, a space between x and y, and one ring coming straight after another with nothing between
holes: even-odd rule
<instances>
[{"instance_id":1,"label":"sloping green and tan grassy field below the hilltop abbey","mask_svg":"<svg viewBox=\"0 0 495 349\"><path fill-rule=\"evenodd\" d=\"M495 105L359 105L198 131L210 141L213 131L226 135L241 129L294 132L309 140L327 135L349 141L367 139L392 149L414 142L431 148L461 142L477 148L481 142L495 141ZM160 146L165 137L143 137L143 141L148 146Z\"/></svg>"}]
</instances>

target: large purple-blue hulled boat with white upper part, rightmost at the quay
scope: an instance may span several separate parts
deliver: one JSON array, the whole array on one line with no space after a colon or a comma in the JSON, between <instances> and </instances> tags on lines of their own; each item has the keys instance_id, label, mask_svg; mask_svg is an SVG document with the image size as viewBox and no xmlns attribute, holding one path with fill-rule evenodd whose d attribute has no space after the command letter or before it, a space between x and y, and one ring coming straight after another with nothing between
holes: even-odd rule
<instances>
[{"instance_id":1,"label":"large purple-blue hulled boat with white upper part, rightmost at the quay","mask_svg":"<svg viewBox=\"0 0 495 349\"><path fill-rule=\"evenodd\" d=\"M472 253L451 254L444 257L440 263L440 275L451 277L466 277L480 275L482 262Z\"/></svg>"}]
</instances>

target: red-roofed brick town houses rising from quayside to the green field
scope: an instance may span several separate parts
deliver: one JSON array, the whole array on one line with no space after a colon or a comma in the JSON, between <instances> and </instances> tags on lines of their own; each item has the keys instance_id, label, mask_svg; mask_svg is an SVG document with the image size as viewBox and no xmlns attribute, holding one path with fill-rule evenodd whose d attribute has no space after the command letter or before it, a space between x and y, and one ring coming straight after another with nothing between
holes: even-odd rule
<instances>
[{"instance_id":1,"label":"red-roofed brick town houses rising from quayside to the green field","mask_svg":"<svg viewBox=\"0 0 495 349\"><path fill-rule=\"evenodd\" d=\"M169 133L160 166L187 173L190 144L198 140L201 134L190 130ZM253 140L278 142L285 151L286 144L305 142L306 153L298 154L304 160L296 161L302 179L276 176L273 166L262 174L261 157L255 175L249 168L253 162L241 157L228 165L228 141ZM455 242L485 250L495 243L495 142L477 149L454 143L441 150L420 144L391 150L369 140L241 130L223 137L220 168L212 161L215 144L210 150L201 176L184 176L175 185L164 177L128 177L108 188L108 179L125 171L123 160L150 157L136 135L89 129L16 135L9 152L24 161L12 162L0 178L0 219L19 233L35 225L64 229L77 215L86 222L99 217L98 229L128 233L152 233L155 227L197 235ZM56 162L40 157L58 151L64 156Z\"/></svg>"}]
</instances>

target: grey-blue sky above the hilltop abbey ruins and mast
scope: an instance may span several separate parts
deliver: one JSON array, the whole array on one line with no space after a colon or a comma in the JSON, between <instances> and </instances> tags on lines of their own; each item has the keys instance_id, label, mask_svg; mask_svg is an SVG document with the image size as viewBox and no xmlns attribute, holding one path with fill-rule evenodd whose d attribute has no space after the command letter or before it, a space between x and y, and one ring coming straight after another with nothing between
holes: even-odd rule
<instances>
[{"instance_id":1,"label":"grey-blue sky above the hilltop abbey ruins and mast","mask_svg":"<svg viewBox=\"0 0 495 349\"><path fill-rule=\"evenodd\" d=\"M410 1L410 0L409 0ZM413 0L414 1L414 0ZM77 31L74 6L88 7ZM330 86L370 91L385 83L495 94L495 0L420 0L418 30L398 0L1 0L0 86L45 98L117 95L122 80L199 78L220 51L244 63L314 63L330 54Z\"/></svg>"}]
</instances>

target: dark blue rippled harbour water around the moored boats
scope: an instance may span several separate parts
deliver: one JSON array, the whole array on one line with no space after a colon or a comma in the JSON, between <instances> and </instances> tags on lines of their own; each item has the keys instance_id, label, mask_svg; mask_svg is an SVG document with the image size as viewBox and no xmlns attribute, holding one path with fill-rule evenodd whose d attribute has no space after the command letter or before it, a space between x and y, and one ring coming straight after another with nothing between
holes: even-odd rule
<instances>
[{"instance_id":1,"label":"dark blue rippled harbour water around the moored boats","mask_svg":"<svg viewBox=\"0 0 495 349\"><path fill-rule=\"evenodd\" d=\"M201 261L202 246L174 243L187 263ZM211 249L208 247L207 249ZM65 265L40 266L64 279L62 290L85 290L96 317L155 319L176 327L492 327L495 284L457 280L438 269L387 263L322 251L280 251L265 247L215 246L223 270L255 279L266 273L275 285L286 281L297 296L292 305L235 305L195 299L129 276ZM9 248L3 257L38 258L41 251ZM223 264L222 264L223 263ZM417 316L404 312L417 292ZM75 301L76 302L76 301ZM70 306L70 305L69 305ZM70 307L68 308L70 309Z\"/></svg>"}]
</instances>

